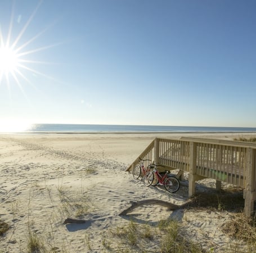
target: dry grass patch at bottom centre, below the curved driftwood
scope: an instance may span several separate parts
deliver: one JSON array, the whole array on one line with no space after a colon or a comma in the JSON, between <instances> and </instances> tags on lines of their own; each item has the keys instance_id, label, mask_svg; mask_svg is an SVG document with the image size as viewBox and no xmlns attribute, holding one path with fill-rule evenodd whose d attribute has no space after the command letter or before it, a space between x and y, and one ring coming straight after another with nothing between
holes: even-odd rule
<instances>
[{"instance_id":1,"label":"dry grass patch at bottom centre, below the curved driftwood","mask_svg":"<svg viewBox=\"0 0 256 253\"><path fill-rule=\"evenodd\" d=\"M111 230L119 241L118 252L147 252L154 245L155 252L206 252L199 244L182 236L176 220L160 220L157 226L138 224L130 220L125 226ZM108 244L110 250L110 243ZM152 249L153 250L153 249Z\"/></svg>"}]
</instances>

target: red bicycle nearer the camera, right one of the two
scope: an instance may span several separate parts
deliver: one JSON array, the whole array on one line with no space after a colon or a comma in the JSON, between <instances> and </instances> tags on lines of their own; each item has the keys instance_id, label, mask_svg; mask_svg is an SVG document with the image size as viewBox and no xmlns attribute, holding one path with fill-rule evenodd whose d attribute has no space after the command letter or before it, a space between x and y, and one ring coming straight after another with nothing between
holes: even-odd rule
<instances>
[{"instance_id":1,"label":"red bicycle nearer the camera, right one of the two","mask_svg":"<svg viewBox=\"0 0 256 253\"><path fill-rule=\"evenodd\" d=\"M161 165L152 164L151 166L154 166L153 171L148 171L143 177L143 183L145 184L145 186L151 186L152 182L156 177L158 181L156 182L156 184L159 183L161 186L164 186L168 192L174 193L178 191L181 184L176 177L169 175L169 171L165 171L165 174L161 175L156 169L157 166Z\"/></svg>"}]
</instances>

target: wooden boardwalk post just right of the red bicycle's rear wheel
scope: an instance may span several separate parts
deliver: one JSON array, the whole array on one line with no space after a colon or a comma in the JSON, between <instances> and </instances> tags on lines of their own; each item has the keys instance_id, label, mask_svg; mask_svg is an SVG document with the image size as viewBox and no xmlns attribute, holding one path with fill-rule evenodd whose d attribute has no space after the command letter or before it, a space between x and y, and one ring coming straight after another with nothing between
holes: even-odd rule
<instances>
[{"instance_id":1,"label":"wooden boardwalk post just right of the red bicycle's rear wheel","mask_svg":"<svg viewBox=\"0 0 256 253\"><path fill-rule=\"evenodd\" d=\"M190 168L188 174L188 197L192 197L195 194L195 182L196 182L196 143L190 142Z\"/></svg>"}]
</instances>

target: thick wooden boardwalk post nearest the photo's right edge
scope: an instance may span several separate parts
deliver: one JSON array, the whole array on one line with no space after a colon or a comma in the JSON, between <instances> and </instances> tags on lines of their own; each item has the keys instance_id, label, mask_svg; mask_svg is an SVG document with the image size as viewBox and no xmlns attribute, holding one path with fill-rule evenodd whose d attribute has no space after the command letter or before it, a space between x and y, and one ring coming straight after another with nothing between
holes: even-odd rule
<instances>
[{"instance_id":1,"label":"thick wooden boardwalk post nearest the photo's right edge","mask_svg":"<svg viewBox=\"0 0 256 253\"><path fill-rule=\"evenodd\" d=\"M246 149L246 171L245 171L245 205L244 214L245 216L251 216L254 209L254 173L255 170L255 150L252 148Z\"/></svg>"}]
</instances>

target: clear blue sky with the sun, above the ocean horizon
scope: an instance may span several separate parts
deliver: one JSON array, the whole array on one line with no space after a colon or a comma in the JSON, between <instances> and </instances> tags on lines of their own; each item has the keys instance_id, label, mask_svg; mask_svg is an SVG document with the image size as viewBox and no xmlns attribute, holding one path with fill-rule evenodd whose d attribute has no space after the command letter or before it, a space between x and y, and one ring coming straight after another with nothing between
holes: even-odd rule
<instances>
[{"instance_id":1,"label":"clear blue sky with the sun, above the ocean horizon","mask_svg":"<svg viewBox=\"0 0 256 253\"><path fill-rule=\"evenodd\" d=\"M254 0L1 0L0 121L256 127Z\"/></svg>"}]
</instances>

